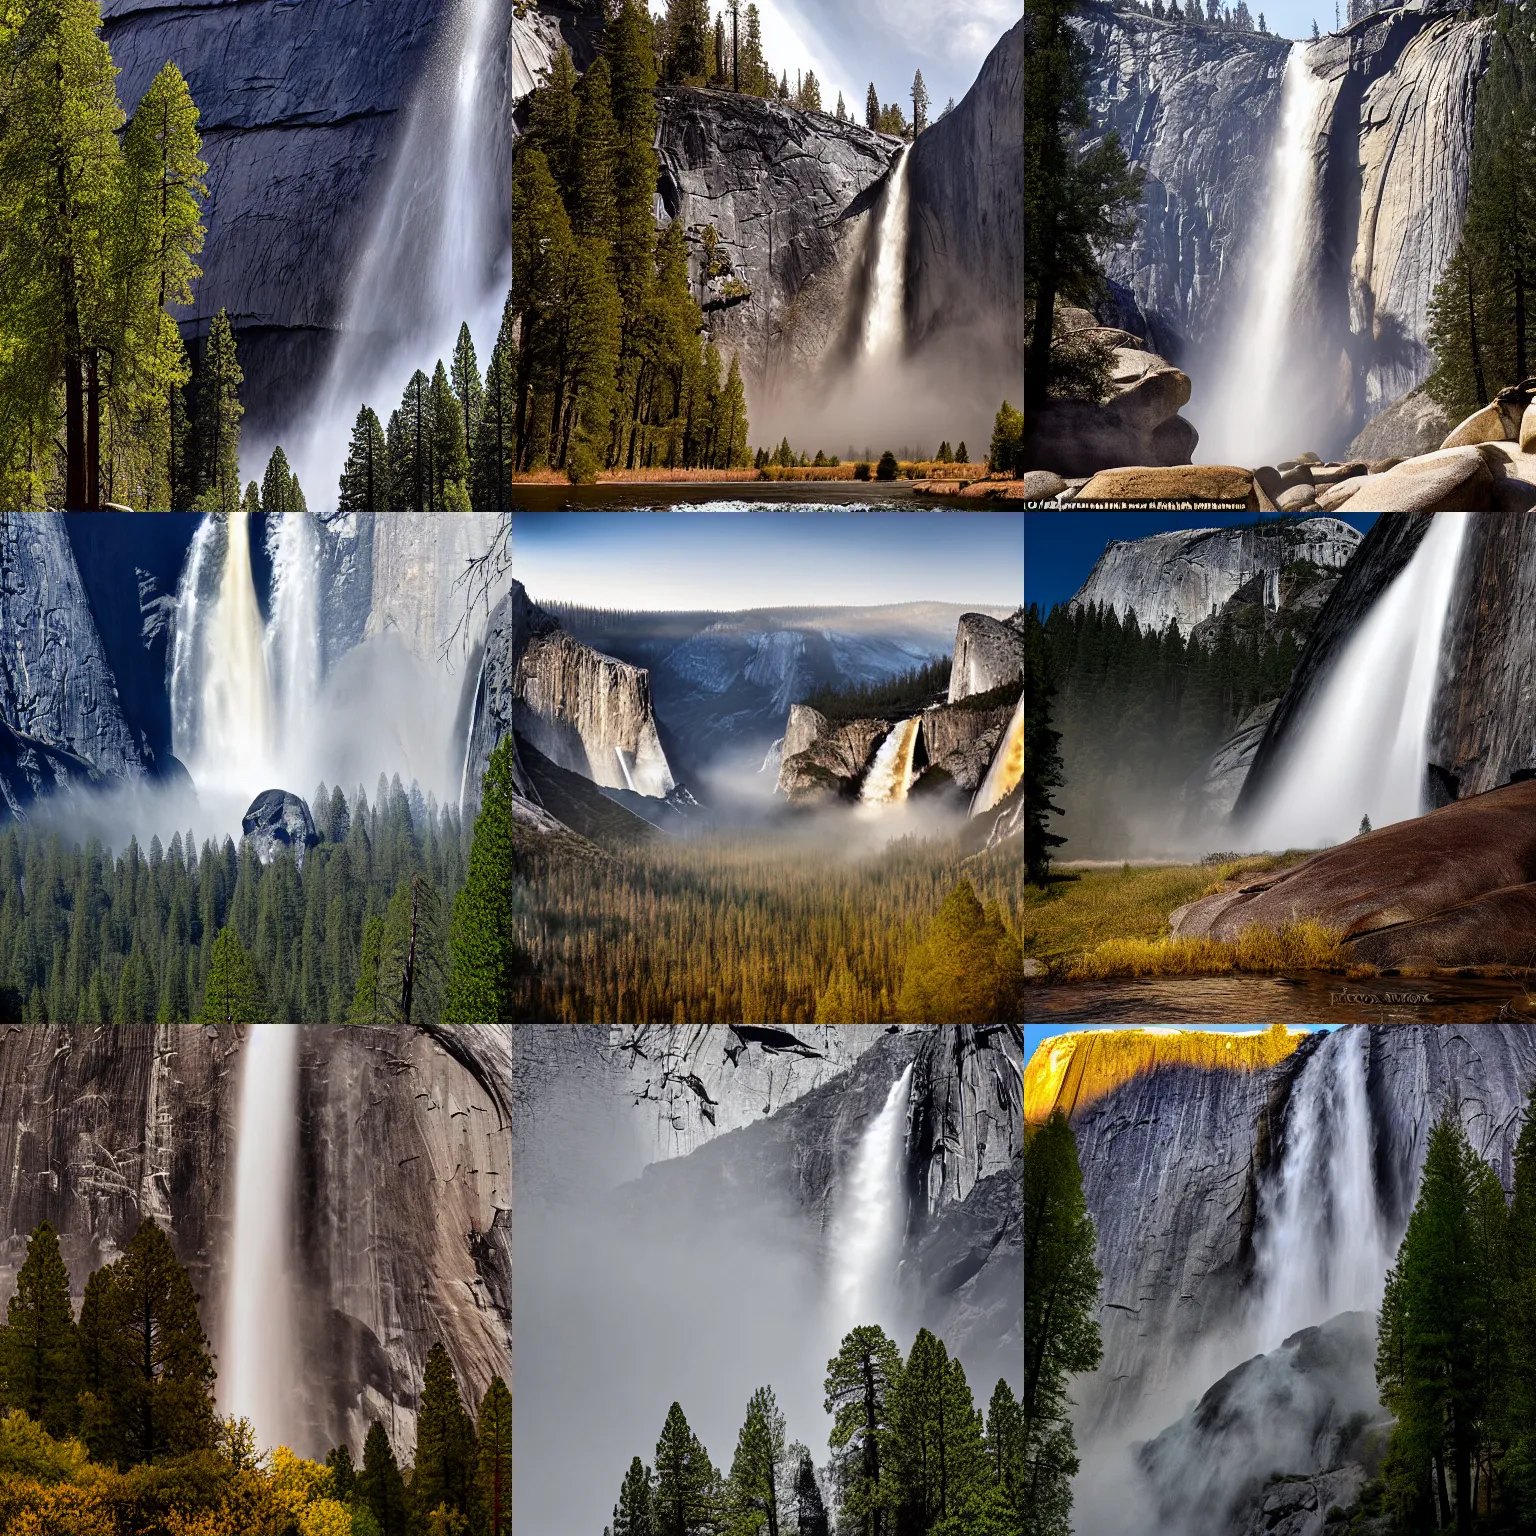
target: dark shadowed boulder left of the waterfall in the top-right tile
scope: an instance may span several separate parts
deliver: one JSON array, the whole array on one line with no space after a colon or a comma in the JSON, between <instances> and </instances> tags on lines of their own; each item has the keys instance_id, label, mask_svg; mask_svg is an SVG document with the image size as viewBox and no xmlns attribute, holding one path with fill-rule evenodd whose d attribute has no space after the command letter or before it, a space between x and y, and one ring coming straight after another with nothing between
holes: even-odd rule
<instances>
[{"instance_id":1,"label":"dark shadowed boulder left of the waterfall in the top-right tile","mask_svg":"<svg viewBox=\"0 0 1536 1536\"><path fill-rule=\"evenodd\" d=\"M1120 464L1189 464L1200 433L1180 416L1189 375L1143 373L1103 404L1054 399L1025 422L1025 468L1094 475Z\"/></svg>"}]
</instances>

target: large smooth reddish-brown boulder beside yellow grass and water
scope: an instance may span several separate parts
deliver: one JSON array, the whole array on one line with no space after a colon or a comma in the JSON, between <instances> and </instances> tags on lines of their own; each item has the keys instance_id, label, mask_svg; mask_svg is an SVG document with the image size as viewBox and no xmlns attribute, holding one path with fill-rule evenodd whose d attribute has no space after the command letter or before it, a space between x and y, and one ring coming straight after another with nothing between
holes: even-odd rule
<instances>
[{"instance_id":1,"label":"large smooth reddish-brown boulder beside yellow grass and water","mask_svg":"<svg viewBox=\"0 0 1536 1536\"><path fill-rule=\"evenodd\" d=\"M1511 894L1516 886L1528 894ZM1253 923L1312 920L1373 965L1401 965L1419 952L1435 954L1436 965L1525 965L1536 932L1533 886L1536 779L1527 779L1352 837L1238 891L1201 897L1178 908L1169 925L1180 937L1232 940ZM1468 905L1476 912L1455 915ZM1366 943L1366 935L1375 937Z\"/></svg>"}]
</instances>

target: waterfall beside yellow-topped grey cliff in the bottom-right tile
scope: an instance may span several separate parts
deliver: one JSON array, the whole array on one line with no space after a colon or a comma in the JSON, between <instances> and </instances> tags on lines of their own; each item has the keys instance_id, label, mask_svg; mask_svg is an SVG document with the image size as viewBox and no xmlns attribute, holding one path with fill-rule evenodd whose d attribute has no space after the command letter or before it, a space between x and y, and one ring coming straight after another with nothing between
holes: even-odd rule
<instances>
[{"instance_id":1,"label":"waterfall beside yellow-topped grey cliff in the bottom-right tile","mask_svg":"<svg viewBox=\"0 0 1536 1536\"><path fill-rule=\"evenodd\" d=\"M1392 1249L1376 1206L1369 1052L1369 1029L1339 1031L1292 1091L1279 1175L1260 1204L1260 1349L1381 1304Z\"/></svg>"}]
</instances>

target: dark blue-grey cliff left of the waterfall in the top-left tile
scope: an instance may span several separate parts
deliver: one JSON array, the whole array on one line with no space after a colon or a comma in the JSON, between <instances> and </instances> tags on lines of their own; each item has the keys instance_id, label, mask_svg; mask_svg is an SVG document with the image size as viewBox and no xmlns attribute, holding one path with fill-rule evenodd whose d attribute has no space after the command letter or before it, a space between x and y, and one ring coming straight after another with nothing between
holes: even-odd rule
<instances>
[{"instance_id":1,"label":"dark blue-grey cliff left of the waterfall in the top-left tile","mask_svg":"<svg viewBox=\"0 0 1536 1536\"><path fill-rule=\"evenodd\" d=\"M301 419L330 355L390 155L459 8L106 0L101 9L126 111L167 58L187 78L209 200L203 278L180 316L183 336L206 338L227 309L246 432L281 435ZM505 68L504 49L490 55ZM504 149L487 144L487 164Z\"/></svg>"}]
</instances>

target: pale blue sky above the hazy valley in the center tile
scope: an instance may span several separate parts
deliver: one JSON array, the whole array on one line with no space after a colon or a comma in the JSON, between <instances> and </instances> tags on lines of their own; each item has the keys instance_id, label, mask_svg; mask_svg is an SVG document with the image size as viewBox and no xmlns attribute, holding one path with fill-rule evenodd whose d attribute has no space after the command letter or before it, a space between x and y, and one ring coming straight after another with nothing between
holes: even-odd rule
<instances>
[{"instance_id":1,"label":"pale blue sky above the hazy valley in the center tile","mask_svg":"<svg viewBox=\"0 0 1536 1536\"><path fill-rule=\"evenodd\" d=\"M1018 605L1021 511L524 511L533 598L608 608Z\"/></svg>"}]
</instances>

